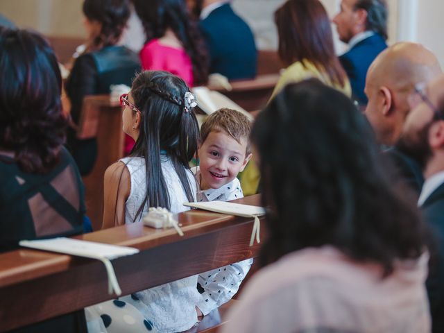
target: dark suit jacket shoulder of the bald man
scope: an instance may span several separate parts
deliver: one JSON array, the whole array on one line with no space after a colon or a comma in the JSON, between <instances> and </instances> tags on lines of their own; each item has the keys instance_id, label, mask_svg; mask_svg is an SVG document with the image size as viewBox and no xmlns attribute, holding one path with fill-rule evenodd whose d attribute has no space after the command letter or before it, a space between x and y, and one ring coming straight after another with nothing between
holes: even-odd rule
<instances>
[{"instance_id":1,"label":"dark suit jacket shoulder of the bald man","mask_svg":"<svg viewBox=\"0 0 444 333\"><path fill-rule=\"evenodd\" d=\"M424 184L424 176L422 176L422 170L418 163L396 148L388 148L384 151L384 155L388 157L393 167L395 167L395 178L412 189L416 197L419 198L422 185Z\"/></svg>"}]
</instances>

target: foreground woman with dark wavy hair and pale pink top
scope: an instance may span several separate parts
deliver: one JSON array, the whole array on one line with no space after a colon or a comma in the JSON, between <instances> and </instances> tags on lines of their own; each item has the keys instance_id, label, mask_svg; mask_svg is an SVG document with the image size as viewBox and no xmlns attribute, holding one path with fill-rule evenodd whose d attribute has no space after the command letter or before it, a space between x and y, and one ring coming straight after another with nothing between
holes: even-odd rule
<instances>
[{"instance_id":1,"label":"foreground woman with dark wavy hair and pale pink top","mask_svg":"<svg viewBox=\"0 0 444 333\"><path fill-rule=\"evenodd\" d=\"M252 139L265 267L223 332L429 332L427 230L350 99L316 79L287 85Z\"/></svg>"}]
</instances>

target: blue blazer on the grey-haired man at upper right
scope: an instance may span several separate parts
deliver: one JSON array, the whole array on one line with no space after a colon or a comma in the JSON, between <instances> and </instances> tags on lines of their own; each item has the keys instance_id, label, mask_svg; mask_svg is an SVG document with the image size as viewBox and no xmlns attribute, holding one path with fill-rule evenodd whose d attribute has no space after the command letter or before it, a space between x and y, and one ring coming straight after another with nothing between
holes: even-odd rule
<instances>
[{"instance_id":1,"label":"blue blazer on the grey-haired man at upper right","mask_svg":"<svg viewBox=\"0 0 444 333\"><path fill-rule=\"evenodd\" d=\"M387 44L384 38L375 33L375 35L361 40L352 49L339 57L350 79L353 98L360 105L366 105L368 102L367 96L364 94L368 67L386 47Z\"/></svg>"}]
</instances>

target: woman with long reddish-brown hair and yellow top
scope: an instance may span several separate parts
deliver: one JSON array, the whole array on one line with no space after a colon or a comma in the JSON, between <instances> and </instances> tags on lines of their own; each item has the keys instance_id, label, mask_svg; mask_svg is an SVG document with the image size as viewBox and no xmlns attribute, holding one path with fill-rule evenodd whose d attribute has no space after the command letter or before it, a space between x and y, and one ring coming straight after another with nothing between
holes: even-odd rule
<instances>
[{"instance_id":1,"label":"woman with long reddish-brown hair and yellow top","mask_svg":"<svg viewBox=\"0 0 444 333\"><path fill-rule=\"evenodd\" d=\"M280 59L287 66L273 96L288 83L314 77L347 96L350 83L334 52L332 28L319 0L287 0L275 12Z\"/></svg>"}]
</instances>

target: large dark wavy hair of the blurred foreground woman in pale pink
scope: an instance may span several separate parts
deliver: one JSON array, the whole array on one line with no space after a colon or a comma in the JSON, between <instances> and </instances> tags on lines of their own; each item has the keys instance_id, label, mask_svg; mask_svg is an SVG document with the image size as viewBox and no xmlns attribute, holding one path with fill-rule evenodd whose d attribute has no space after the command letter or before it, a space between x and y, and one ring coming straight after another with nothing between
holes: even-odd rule
<instances>
[{"instance_id":1,"label":"large dark wavy hair of the blurred foreground woman in pale pink","mask_svg":"<svg viewBox=\"0 0 444 333\"><path fill-rule=\"evenodd\" d=\"M341 92L314 79L288 85L259 114L252 138L271 207L264 264L330 245L389 273L395 259L422 253L416 206L388 180L370 126Z\"/></svg>"}]
</instances>

